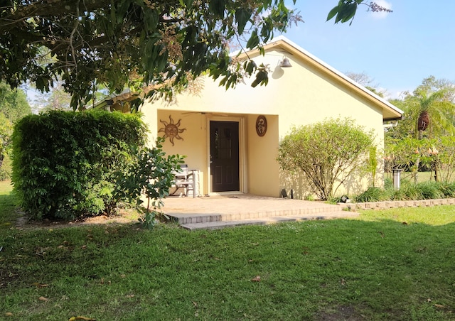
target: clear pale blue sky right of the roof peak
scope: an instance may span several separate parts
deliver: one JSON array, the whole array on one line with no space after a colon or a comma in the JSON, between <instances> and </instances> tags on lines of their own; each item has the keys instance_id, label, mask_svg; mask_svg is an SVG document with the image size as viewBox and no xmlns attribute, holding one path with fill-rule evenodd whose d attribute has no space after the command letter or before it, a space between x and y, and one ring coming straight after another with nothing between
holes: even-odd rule
<instances>
[{"instance_id":1,"label":"clear pale blue sky right of the roof peak","mask_svg":"<svg viewBox=\"0 0 455 321\"><path fill-rule=\"evenodd\" d=\"M455 1L375 2L393 12L367 12L362 5L349 26L326 22L338 0L296 0L305 22L284 36L336 70L364 72L392 98L430 75L455 82Z\"/></svg>"}]
</instances>

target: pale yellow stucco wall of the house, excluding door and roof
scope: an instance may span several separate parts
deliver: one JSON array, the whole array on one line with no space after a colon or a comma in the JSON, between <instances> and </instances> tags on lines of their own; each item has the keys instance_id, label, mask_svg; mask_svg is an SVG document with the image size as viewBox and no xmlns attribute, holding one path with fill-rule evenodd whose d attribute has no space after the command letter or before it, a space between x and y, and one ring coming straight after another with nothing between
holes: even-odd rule
<instances>
[{"instance_id":1,"label":"pale yellow stucco wall of the house, excluding door and roof","mask_svg":"<svg viewBox=\"0 0 455 321\"><path fill-rule=\"evenodd\" d=\"M353 92L336 77L328 75L314 65L308 64L294 55L287 54L292 67L279 67L284 54L271 50L264 56L252 58L257 65L268 65L269 83L267 86L250 86L253 79L246 79L235 89L219 87L211 78L198 80L200 91L177 94L169 103L149 102L141 108L144 120L149 124L151 141L154 141L165 121L181 121L180 128L186 129L174 138L174 146L169 139L164 143L166 153L186 155L190 168L200 170L200 193L210 192L210 164L208 156L208 121L214 119L238 119L242 121L240 130L241 175L240 190L255 195L279 196L280 190L294 189L296 197L304 197L307 185L291 183L280 176L276 161L279 139L289 133L291 126L311 124L328 117L350 117L365 130L375 131L376 143L382 148L384 132L382 110L360 94ZM267 117L267 134L257 136L255 122L258 115ZM161 120L161 121L160 121ZM378 171L379 180L382 180ZM365 187L368 178L355 178L340 192L354 192L355 187ZM305 187L306 186L306 187Z\"/></svg>"}]
</instances>

